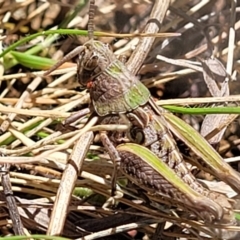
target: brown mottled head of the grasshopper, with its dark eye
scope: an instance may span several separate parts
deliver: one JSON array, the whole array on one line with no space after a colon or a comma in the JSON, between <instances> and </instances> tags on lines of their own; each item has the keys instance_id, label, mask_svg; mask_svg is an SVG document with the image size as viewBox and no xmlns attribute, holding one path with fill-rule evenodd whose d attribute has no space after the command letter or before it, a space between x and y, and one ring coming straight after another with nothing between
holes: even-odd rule
<instances>
[{"instance_id":1,"label":"brown mottled head of the grasshopper, with its dark eye","mask_svg":"<svg viewBox=\"0 0 240 240\"><path fill-rule=\"evenodd\" d=\"M80 85L88 87L115 56L107 44L99 41L90 40L84 47L84 51L79 55L77 74Z\"/></svg>"}]
</instances>

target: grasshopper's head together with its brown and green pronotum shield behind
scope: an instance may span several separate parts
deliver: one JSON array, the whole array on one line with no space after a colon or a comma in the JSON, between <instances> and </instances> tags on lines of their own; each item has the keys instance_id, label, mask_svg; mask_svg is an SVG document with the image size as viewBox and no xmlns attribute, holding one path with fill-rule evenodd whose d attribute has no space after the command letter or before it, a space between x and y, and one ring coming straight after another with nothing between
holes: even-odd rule
<instances>
[{"instance_id":1,"label":"grasshopper's head together with its brown and green pronotum shield behind","mask_svg":"<svg viewBox=\"0 0 240 240\"><path fill-rule=\"evenodd\" d=\"M118 60L107 44L90 40L78 63L78 81L87 86L99 116L126 113L144 105L148 89Z\"/></svg>"}]
</instances>

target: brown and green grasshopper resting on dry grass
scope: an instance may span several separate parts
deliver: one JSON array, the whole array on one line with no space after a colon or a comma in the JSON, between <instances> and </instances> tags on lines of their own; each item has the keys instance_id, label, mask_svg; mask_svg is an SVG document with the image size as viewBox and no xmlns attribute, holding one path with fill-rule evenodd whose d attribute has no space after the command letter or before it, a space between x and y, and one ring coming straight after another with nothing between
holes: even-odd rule
<instances>
[{"instance_id":1,"label":"brown and green grasshopper resting on dry grass","mask_svg":"<svg viewBox=\"0 0 240 240\"><path fill-rule=\"evenodd\" d=\"M116 58L108 45L93 40L93 5L94 1L91 0L90 40L65 56L45 75L79 54L77 78L80 85L89 90L92 115L99 117L99 124L125 123L129 126L124 133L100 132L102 143L114 162L114 171L120 167L133 182L140 183L148 191L152 189L165 198L175 198L177 206L185 207L206 221L220 221L226 209L231 211L231 204L224 195L210 192L196 181L168 129L169 124L164 118L163 109L156 106L149 90ZM70 123L73 119L76 116L66 122ZM170 127L173 128L173 125L171 123ZM126 141L136 143L139 152L132 152L131 149L136 148L136 145L125 143ZM221 166L213 168L208 160L204 159L205 162L218 178L224 179L240 192L236 184L240 182L238 174L224 164L213 149L211 151L217 156L215 163L220 163ZM151 159L157 159L161 167L151 165ZM228 173L233 174L228 177ZM219 199L224 203L218 204Z\"/></svg>"}]
</instances>

